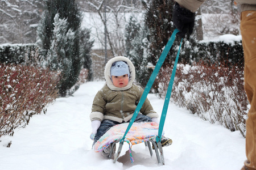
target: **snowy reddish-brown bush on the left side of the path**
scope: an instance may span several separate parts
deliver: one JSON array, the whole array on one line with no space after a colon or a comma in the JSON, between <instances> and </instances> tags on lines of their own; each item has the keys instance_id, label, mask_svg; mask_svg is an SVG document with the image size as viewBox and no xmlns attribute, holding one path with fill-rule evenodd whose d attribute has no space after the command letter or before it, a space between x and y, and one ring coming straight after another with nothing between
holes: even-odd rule
<instances>
[{"instance_id":1,"label":"snowy reddish-brown bush on the left side of the path","mask_svg":"<svg viewBox=\"0 0 256 170\"><path fill-rule=\"evenodd\" d=\"M59 76L32 66L0 65L0 137L13 135L56 99Z\"/></svg>"}]
</instances>

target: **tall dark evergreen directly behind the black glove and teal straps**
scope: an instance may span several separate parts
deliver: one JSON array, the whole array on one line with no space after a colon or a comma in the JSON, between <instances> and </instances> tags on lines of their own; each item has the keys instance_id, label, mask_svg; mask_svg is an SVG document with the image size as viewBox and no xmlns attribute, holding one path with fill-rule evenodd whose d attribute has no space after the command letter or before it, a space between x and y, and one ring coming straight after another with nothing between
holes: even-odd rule
<instances>
[{"instance_id":1,"label":"tall dark evergreen directly behind the black glove and teal straps","mask_svg":"<svg viewBox=\"0 0 256 170\"><path fill-rule=\"evenodd\" d=\"M172 23L172 10L175 1L172 0L143 0L143 6L146 7L146 14L144 22L147 24L148 28L150 28L150 39L148 39L151 43L150 50L152 56L150 57L150 61L153 65L156 64L160 55L163 52L164 46L167 44L172 32L174 32L174 25ZM200 20L196 20L196 27L200 27ZM191 47L196 46L197 35L196 31L190 36L189 41L186 39L183 40L181 49L185 53L180 54L179 62L181 63L191 63L193 57L191 54ZM176 54L177 54L177 46L179 46L181 39L176 36L176 40L168 53L166 60L163 63L163 67L170 66L174 63ZM157 86L156 86L157 87Z\"/></svg>"}]
</instances>

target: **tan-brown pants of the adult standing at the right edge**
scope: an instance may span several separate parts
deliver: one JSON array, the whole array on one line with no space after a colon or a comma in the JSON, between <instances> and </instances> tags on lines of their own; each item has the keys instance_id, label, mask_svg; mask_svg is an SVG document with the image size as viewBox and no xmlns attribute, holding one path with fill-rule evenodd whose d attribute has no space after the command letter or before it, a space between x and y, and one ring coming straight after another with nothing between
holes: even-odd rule
<instances>
[{"instance_id":1,"label":"tan-brown pants of the adult standing at the right edge","mask_svg":"<svg viewBox=\"0 0 256 170\"><path fill-rule=\"evenodd\" d=\"M245 91L251 105L246 120L245 166L256 169L256 11L241 13L241 35L245 57Z\"/></svg>"}]
</instances>

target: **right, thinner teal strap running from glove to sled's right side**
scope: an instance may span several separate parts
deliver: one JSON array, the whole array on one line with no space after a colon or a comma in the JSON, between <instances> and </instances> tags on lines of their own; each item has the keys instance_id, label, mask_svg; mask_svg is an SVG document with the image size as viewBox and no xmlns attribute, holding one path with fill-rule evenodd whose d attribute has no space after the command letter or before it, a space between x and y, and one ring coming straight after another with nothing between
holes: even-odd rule
<instances>
[{"instance_id":1,"label":"right, thinner teal strap running from glove to sled's right side","mask_svg":"<svg viewBox=\"0 0 256 170\"><path fill-rule=\"evenodd\" d=\"M182 40L183 39L181 39L181 41L180 41L180 47L177 52L177 56L176 56L175 63L174 63L174 69L172 70L170 83L168 85L168 89L167 89L167 93L166 93L166 99L164 100L163 111L161 114L161 119L160 119L159 129L158 129L158 136L156 137L156 142L161 141L161 138L162 138L164 121L166 121L166 113L167 113L169 101L170 101L171 94L172 94L172 84L174 84L174 78L175 78L175 73L176 73L176 68L177 68L177 61L178 61L179 55L180 55L180 48L181 48Z\"/></svg>"}]
</instances>

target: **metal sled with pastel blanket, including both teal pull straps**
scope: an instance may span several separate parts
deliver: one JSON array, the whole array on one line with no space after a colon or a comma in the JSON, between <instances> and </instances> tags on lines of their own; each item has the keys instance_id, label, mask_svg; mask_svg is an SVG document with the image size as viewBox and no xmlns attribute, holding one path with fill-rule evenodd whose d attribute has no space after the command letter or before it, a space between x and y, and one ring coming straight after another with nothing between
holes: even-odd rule
<instances>
[{"instance_id":1,"label":"metal sled with pastel blanket, including both teal pull straps","mask_svg":"<svg viewBox=\"0 0 256 170\"><path fill-rule=\"evenodd\" d=\"M176 36L177 32L179 32L179 30L175 29L174 32L172 33L170 39L168 40L166 46L164 47L163 53L161 54L161 56L159 57L158 62L156 63L155 69L153 70L153 72L152 72L152 74L150 76L150 79L147 82L147 85L146 85L146 87L144 89L144 92L143 92L143 94L141 96L141 99L139 100L137 108L135 109L133 117L131 118L129 124L120 124L120 126L126 126L126 127L122 127L122 128L119 127L119 128L122 129L122 130L123 129L126 129L126 130L122 131L121 134L118 133L118 137L115 137L114 139L110 140L112 142L109 142L109 143L106 142L105 145L102 145L101 147L97 148L97 150L100 151L101 149L103 150L104 147L106 148L109 145L112 145L114 147L116 145L116 143L119 142L119 148L118 148L117 154L115 155L114 163L117 161L119 155L121 154L123 142L126 141L127 143L132 143L132 144L133 143L134 144L138 144L138 143L142 143L142 142L145 142L145 144L147 143L148 149L150 150L150 155L152 156L152 148L150 147L150 142L151 142L152 145L155 148L155 153L156 153L156 158L158 159L158 163L164 165L164 156L163 156L163 148L162 148L162 145L161 145L161 138L162 138L164 121L166 120L168 104L169 104L170 97L171 97L172 84L174 83L177 61L179 59L179 54L180 54L181 42L182 42L183 39L181 39L181 41L180 41L179 50L177 52L177 56L176 56L175 63L174 63L174 69L172 70L172 74L171 74L171 78L170 78L170 83L168 85L168 89L167 89L167 93L166 93L166 98L164 100L164 105L163 105L163 110L162 110L162 114L161 114L161 118L160 118L160 123L159 123L159 125L157 124L157 126L158 126L157 130L154 131L154 128L152 128L150 126L150 128L149 128L150 129L149 130L150 131L150 135L143 134L144 133L143 130L138 135L134 135L134 134L138 133L137 130L139 129L138 128L139 126L144 126L144 125L146 125L148 123L144 123L143 125L142 124L141 125L136 125L136 123L135 123L135 126L133 125L133 123L134 123L134 120L137 117L139 111L141 110L144 101L146 100L148 92L150 92L152 84L154 83L154 80L155 80L155 78L158 75L158 72L160 70L160 67L163 65L164 59L166 58L167 54L169 53L169 51L171 49L172 44L174 43L175 36ZM153 127L155 126L154 122L150 122L150 125L152 125ZM113 126L112 128L114 128L114 127L115 126ZM112 130L112 128L111 128L111 130ZM141 129L146 129L146 128L141 127ZM110 136L115 136L116 133L117 133L117 131L115 131L115 129L114 129L113 133L106 134L106 135L109 135L108 137L110 137ZM129 135L129 134L131 136L127 137L127 135ZM121 135L121 137L119 137L119 135ZM98 145L100 145L101 142L105 142L105 141L104 141L104 138L102 138L101 140L98 140L97 142L99 142ZM113 152L113 150L110 151L111 156L113 154L112 152ZM131 155L131 152L130 152L130 155ZM111 156L109 156L109 158L111 158ZM131 160L132 160L133 159L132 156L130 156L130 157L131 157Z\"/></svg>"}]
</instances>

